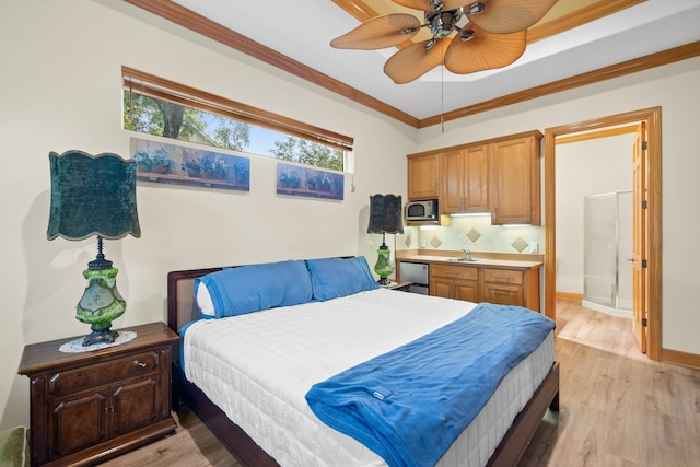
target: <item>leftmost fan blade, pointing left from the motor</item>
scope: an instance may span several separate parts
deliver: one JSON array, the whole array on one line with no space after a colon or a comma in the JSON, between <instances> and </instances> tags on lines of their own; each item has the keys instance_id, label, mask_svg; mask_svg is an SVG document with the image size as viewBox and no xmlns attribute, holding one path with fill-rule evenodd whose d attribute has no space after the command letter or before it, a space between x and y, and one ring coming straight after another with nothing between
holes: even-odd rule
<instances>
[{"instance_id":1,"label":"leftmost fan blade, pointing left from the motor","mask_svg":"<svg viewBox=\"0 0 700 467\"><path fill-rule=\"evenodd\" d=\"M420 30L421 23L412 14L392 13L368 20L354 30L330 42L335 48L375 50L408 40Z\"/></svg>"}]
</instances>

